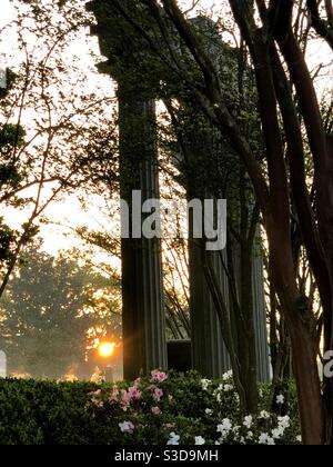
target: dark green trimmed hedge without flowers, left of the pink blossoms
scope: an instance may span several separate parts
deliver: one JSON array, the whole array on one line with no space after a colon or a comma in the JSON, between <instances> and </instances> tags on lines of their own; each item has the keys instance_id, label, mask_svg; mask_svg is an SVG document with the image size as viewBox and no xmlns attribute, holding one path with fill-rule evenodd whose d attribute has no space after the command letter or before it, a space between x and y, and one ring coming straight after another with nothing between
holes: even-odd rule
<instances>
[{"instance_id":1,"label":"dark green trimmed hedge without flowers, left of the pink blossoms","mask_svg":"<svg viewBox=\"0 0 333 467\"><path fill-rule=\"evenodd\" d=\"M102 420L87 410L90 382L0 380L1 445L105 443Z\"/></svg>"}]
</instances>

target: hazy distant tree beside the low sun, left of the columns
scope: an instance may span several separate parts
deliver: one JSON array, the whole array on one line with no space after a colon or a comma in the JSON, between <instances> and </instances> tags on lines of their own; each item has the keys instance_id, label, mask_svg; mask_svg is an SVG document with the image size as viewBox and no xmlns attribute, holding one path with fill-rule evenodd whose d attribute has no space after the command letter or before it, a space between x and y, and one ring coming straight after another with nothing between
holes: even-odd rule
<instances>
[{"instance_id":1,"label":"hazy distant tree beside the low sun, left of the columns","mask_svg":"<svg viewBox=\"0 0 333 467\"><path fill-rule=\"evenodd\" d=\"M60 377L104 336L120 340L120 290L89 267L30 251L0 302L10 371Z\"/></svg>"}]
</instances>

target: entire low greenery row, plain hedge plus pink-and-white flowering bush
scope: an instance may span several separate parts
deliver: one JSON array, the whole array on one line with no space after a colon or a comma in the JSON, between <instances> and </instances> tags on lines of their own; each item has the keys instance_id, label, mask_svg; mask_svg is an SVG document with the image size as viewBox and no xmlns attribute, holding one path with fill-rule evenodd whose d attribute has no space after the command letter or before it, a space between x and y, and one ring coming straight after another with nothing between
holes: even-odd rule
<instances>
[{"instance_id":1,"label":"entire low greenery row, plain hedge plus pink-and-white flowering bush","mask_svg":"<svg viewBox=\"0 0 333 467\"><path fill-rule=\"evenodd\" d=\"M134 382L0 379L0 445L299 444L296 396L260 387L258 415L240 414L232 375L221 380L152 371Z\"/></svg>"}]
</instances>

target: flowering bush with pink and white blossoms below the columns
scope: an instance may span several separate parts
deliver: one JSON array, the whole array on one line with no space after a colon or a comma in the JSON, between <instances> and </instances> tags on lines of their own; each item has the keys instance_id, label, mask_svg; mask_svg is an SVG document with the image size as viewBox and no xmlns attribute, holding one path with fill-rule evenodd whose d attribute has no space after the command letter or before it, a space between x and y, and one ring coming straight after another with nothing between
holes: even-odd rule
<instances>
[{"instance_id":1,"label":"flowering bush with pink and white blossoms below the columns","mask_svg":"<svg viewBox=\"0 0 333 467\"><path fill-rule=\"evenodd\" d=\"M240 415L240 398L232 374L222 381L185 378L152 371L134 386L113 386L91 394L94 414L104 411L123 418L121 444L167 445L290 445L300 444L295 398L276 397L276 413L266 409L269 388L260 390L261 410L256 416ZM290 415L286 410L291 409ZM130 421L129 421L130 420Z\"/></svg>"}]
</instances>

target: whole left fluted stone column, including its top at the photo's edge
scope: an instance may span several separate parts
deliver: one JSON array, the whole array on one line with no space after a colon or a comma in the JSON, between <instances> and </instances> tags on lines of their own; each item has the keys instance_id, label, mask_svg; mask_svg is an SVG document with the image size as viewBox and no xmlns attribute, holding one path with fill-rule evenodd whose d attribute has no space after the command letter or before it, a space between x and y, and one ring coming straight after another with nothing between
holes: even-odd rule
<instances>
[{"instance_id":1,"label":"whole left fluted stone column, including its top at the photo's edge","mask_svg":"<svg viewBox=\"0 0 333 467\"><path fill-rule=\"evenodd\" d=\"M134 8L130 0L122 3ZM168 366L161 244L157 238L133 235L131 216L133 203L140 211L145 200L159 198L155 96L151 82L138 73L135 60L143 50L140 39L132 32L124 40L125 21L112 2L93 0L87 9L95 16L91 32L108 58L99 70L118 82L120 195L130 208L129 219L122 212L123 230L130 220L129 238L121 240L123 358L124 377L133 379L140 371ZM140 198L133 199L133 191L139 191ZM139 228L143 220L139 219Z\"/></svg>"}]
</instances>

